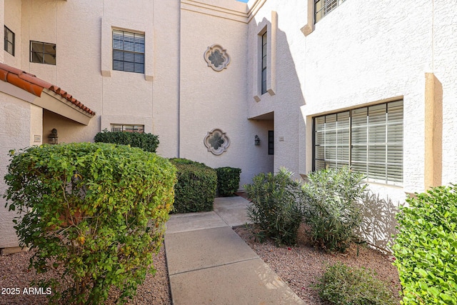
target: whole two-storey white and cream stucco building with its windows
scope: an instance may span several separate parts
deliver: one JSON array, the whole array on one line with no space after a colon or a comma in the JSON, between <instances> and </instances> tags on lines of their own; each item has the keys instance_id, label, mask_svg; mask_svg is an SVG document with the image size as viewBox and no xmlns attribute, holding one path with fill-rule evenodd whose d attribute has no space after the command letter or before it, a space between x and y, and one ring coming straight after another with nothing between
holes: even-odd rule
<instances>
[{"instance_id":1,"label":"whole two-storey white and cream stucco building with its windows","mask_svg":"<svg viewBox=\"0 0 457 305\"><path fill-rule=\"evenodd\" d=\"M0 0L0 176L52 129L135 129L241 186L344 164L396 202L455 183L456 4ZM17 245L4 204L0 248Z\"/></svg>"}]
</instances>

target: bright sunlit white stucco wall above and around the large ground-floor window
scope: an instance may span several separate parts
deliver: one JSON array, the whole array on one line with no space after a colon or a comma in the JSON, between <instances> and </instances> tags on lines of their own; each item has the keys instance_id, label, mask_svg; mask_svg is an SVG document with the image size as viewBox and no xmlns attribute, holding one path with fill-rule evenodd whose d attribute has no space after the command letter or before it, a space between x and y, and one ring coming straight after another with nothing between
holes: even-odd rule
<instances>
[{"instance_id":1,"label":"bright sunlit white stucco wall above and around the large ground-floor window","mask_svg":"<svg viewBox=\"0 0 457 305\"><path fill-rule=\"evenodd\" d=\"M396 9L391 9L396 6ZM414 10L405 14L408 7ZM403 186L423 190L425 73L431 69L430 1L347 1L306 36L306 106L323 112L403 96ZM414 29L414 31L411 31ZM311 131L308 129L308 146ZM311 166L311 151L306 155Z\"/></svg>"}]
</instances>

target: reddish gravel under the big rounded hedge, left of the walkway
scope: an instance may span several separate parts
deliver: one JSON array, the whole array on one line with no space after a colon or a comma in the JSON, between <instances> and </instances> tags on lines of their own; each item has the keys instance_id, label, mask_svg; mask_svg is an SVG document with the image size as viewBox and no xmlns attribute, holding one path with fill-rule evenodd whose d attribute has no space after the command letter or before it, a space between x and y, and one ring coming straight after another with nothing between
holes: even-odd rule
<instances>
[{"instance_id":1,"label":"reddish gravel under the big rounded hedge, left of the walkway","mask_svg":"<svg viewBox=\"0 0 457 305\"><path fill-rule=\"evenodd\" d=\"M21 252L7 256L0 256L0 305L35 305L47 304L46 295L24 294L24 288L31 287L32 280L45 279L44 274L36 274L29 271L29 259L31 252ZM166 259L164 246L162 245L159 254L154 256L154 266L157 271L155 276L148 274L144 283L136 290L136 296L128 304L171 304L169 276L166 270ZM58 278L58 272L51 272L46 276ZM19 288L20 293L12 295L7 288ZM44 291L46 293L46 291ZM111 291L110 297L105 304L114 304L116 291Z\"/></svg>"}]
</instances>

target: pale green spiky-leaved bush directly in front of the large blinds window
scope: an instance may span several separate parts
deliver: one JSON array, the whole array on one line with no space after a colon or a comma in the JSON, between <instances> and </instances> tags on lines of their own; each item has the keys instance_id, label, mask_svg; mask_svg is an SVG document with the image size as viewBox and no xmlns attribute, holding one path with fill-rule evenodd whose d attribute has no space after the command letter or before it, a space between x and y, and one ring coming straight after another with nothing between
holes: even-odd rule
<instances>
[{"instance_id":1,"label":"pale green spiky-leaved bush directly in front of the large blinds window","mask_svg":"<svg viewBox=\"0 0 457 305\"><path fill-rule=\"evenodd\" d=\"M312 239L328 250L345 251L361 224L357 201L366 189L362 177L348 168L323 169L308 176L305 219Z\"/></svg>"}]
</instances>

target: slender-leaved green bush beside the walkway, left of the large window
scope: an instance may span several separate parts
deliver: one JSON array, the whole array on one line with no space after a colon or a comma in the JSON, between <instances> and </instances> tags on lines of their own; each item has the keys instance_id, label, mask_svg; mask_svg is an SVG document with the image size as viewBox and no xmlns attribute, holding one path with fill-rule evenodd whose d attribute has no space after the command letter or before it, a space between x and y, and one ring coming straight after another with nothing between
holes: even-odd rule
<instances>
[{"instance_id":1,"label":"slender-leaved green bush beside the walkway, left of the large window","mask_svg":"<svg viewBox=\"0 0 457 305\"><path fill-rule=\"evenodd\" d=\"M281 169L277 174L261 173L253 177L252 184L244 186L252 202L247 210L248 219L254 224L261 242L268 236L276 245L296 244L303 217L304 193L292 175L287 169Z\"/></svg>"}]
</instances>

